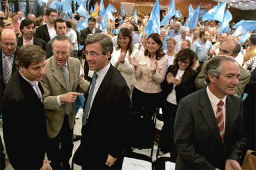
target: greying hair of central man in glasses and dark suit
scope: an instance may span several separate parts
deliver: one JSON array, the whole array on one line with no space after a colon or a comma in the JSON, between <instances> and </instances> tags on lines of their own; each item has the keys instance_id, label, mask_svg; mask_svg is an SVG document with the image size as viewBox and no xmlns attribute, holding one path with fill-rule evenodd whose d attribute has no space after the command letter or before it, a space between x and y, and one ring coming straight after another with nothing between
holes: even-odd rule
<instances>
[{"instance_id":1,"label":"greying hair of central man in glasses and dark suit","mask_svg":"<svg viewBox=\"0 0 256 170\"><path fill-rule=\"evenodd\" d=\"M113 42L109 38L108 34L106 33L98 33L88 36L85 41L85 46L88 44L93 44L95 42L100 42L101 51L105 55L107 52L113 52Z\"/></svg>"}]
</instances>

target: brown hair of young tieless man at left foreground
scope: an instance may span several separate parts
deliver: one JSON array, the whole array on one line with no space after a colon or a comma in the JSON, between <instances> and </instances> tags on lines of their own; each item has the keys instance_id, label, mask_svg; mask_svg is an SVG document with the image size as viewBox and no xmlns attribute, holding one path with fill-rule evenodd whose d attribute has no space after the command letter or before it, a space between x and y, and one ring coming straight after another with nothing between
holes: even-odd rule
<instances>
[{"instance_id":1,"label":"brown hair of young tieless man at left foreground","mask_svg":"<svg viewBox=\"0 0 256 170\"><path fill-rule=\"evenodd\" d=\"M15 58L15 64L18 68L28 68L32 63L43 62L45 58L46 53L40 46L25 45L20 47L17 57Z\"/></svg>"}]
</instances>

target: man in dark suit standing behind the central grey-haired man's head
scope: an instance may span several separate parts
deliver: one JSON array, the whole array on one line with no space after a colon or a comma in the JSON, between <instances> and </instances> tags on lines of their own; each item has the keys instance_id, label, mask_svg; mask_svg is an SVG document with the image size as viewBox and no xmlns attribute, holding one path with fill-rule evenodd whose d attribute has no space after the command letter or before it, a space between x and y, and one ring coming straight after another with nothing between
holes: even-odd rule
<instances>
[{"instance_id":1,"label":"man in dark suit standing behind the central grey-haired man's head","mask_svg":"<svg viewBox=\"0 0 256 170\"><path fill-rule=\"evenodd\" d=\"M90 17L88 19L88 27L83 29L80 33L79 36L79 43L81 45L85 44L85 41L87 39L88 34L96 34L96 33L101 33L102 31L98 28L95 28L96 26L96 20L93 17Z\"/></svg>"}]
</instances>

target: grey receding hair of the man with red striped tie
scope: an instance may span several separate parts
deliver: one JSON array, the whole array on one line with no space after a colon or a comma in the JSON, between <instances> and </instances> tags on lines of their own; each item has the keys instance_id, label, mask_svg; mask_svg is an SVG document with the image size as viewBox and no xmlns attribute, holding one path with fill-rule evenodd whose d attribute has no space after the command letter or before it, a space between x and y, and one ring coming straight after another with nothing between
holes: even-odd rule
<instances>
[{"instance_id":1,"label":"grey receding hair of the man with red striped tie","mask_svg":"<svg viewBox=\"0 0 256 170\"><path fill-rule=\"evenodd\" d=\"M229 57L225 55L218 55L213 57L205 67L204 76L205 76L205 81L207 81L207 83L210 83L208 74L211 74L217 78L220 76L220 73L222 71L221 62L223 62L224 60L237 63L233 57Z\"/></svg>"}]
</instances>

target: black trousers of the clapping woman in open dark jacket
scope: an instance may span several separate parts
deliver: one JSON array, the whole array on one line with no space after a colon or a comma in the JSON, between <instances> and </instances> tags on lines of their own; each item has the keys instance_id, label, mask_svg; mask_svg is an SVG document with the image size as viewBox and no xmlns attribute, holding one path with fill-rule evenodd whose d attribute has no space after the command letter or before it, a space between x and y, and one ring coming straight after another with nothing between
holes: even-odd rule
<instances>
[{"instance_id":1,"label":"black trousers of the clapping woman in open dark jacket","mask_svg":"<svg viewBox=\"0 0 256 170\"><path fill-rule=\"evenodd\" d=\"M164 100L163 102L163 121L164 125L161 131L161 138L160 138L160 150L163 153L171 152L171 157L175 158L177 156L177 151L174 146L174 119L176 116L177 105L169 103L168 101Z\"/></svg>"}]
</instances>

